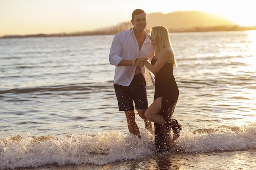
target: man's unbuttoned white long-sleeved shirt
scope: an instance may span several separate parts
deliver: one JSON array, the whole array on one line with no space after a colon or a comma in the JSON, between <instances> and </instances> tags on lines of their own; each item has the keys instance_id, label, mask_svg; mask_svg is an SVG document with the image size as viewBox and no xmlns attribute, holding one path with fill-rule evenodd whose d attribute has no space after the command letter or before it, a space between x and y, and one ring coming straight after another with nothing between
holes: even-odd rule
<instances>
[{"instance_id":1,"label":"man's unbuttoned white long-sleeved shirt","mask_svg":"<svg viewBox=\"0 0 256 170\"><path fill-rule=\"evenodd\" d=\"M135 38L133 29L117 33L112 41L109 54L109 62L115 65L114 83L121 86L129 86L135 74L136 66L118 66L121 60L132 60L134 57L146 57L151 60L154 54L154 47L144 32L146 39L139 51L139 45ZM155 81L145 66L141 67L141 73L145 77L147 85L154 85Z\"/></svg>"}]
</instances>

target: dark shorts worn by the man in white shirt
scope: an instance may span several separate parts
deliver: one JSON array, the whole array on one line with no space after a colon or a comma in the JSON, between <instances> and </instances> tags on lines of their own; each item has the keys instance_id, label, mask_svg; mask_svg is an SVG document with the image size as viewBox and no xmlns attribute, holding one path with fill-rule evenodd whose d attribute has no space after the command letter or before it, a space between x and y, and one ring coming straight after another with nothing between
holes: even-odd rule
<instances>
[{"instance_id":1,"label":"dark shorts worn by the man in white shirt","mask_svg":"<svg viewBox=\"0 0 256 170\"><path fill-rule=\"evenodd\" d=\"M119 111L134 110L133 102L136 109L147 109L148 98L146 91L146 81L144 76L140 73L135 75L130 86L121 86L114 84L117 96Z\"/></svg>"}]
</instances>

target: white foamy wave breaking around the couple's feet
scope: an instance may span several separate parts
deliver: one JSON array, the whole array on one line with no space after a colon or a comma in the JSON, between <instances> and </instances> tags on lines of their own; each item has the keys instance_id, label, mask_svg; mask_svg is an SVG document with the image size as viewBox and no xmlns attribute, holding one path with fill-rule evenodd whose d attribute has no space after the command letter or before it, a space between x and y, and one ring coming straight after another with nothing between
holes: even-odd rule
<instances>
[{"instance_id":1,"label":"white foamy wave breaking around the couple's feet","mask_svg":"<svg viewBox=\"0 0 256 170\"><path fill-rule=\"evenodd\" d=\"M184 132L183 132L184 131ZM172 154L207 153L256 148L256 123L241 127L184 129L173 144ZM97 135L73 134L54 137L8 136L0 139L0 169L31 168L57 164L104 165L141 159L155 154L154 136L141 129L141 139L119 131Z\"/></svg>"}]
</instances>

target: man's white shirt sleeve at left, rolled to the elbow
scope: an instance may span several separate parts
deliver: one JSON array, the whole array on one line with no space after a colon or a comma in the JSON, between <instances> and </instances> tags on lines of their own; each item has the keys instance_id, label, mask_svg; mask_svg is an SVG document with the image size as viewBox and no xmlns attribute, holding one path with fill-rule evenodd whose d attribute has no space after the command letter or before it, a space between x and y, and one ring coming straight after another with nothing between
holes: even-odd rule
<instances>
[{"instance_id":1,"label":"man's white shirt sleeve at left, rolled to the elbow","mask_svg":"<svg viewBox=\"0 0 256 170\"><path fill-rule=\"evenodd\" d=\"M123 58L120 57L121 49L122 49L121 42L122 42L121 36L118 34L115 35L113 38L112 45L110 48L110 53L109 53L109 62L114 66L118 66L119 62L123 60Z\"/></svg>"}]
</instances>

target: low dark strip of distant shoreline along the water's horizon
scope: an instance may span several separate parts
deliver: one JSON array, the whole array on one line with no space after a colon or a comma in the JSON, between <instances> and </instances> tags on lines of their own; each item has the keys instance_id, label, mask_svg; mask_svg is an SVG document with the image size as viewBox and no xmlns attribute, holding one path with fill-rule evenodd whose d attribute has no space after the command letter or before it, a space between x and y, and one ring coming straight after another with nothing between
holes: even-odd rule
<instances>
[{"instance_id":1,"label":"low dark strip of distant shoreline along the water's horizon","mask_svg":"<svg viewBox=\"0 0 256 170\"><path fill-rule=\"evenodd\" d=\"M168 29L169 33L183 33L183 32L212 32L212 31L249 31L256 30L256 26L212 26L212 27L194 27L182 29ZM31 34L31 35L4 35L1 38L40 38L40 37L64 37L64 36L85 36L85 35L115 35L116 33L124 31L120 29L108 31L84 31L76 33L55 33L55 34ZM149 30L146 30L149 33Z\"/></svg>"}]
</instances>

